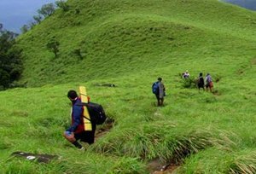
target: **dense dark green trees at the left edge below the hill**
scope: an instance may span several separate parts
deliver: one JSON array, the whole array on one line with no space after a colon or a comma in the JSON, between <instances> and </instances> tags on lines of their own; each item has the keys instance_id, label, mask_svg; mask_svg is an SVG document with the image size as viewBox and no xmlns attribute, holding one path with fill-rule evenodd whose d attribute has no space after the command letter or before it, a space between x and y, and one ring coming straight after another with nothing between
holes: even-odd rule
<instances>
[{"instance_id":1,"label":"dense dark green trees at the left edge below the hill","mask_svg":"<svg viewBox=\"0 0 256 174\"><path fill-rule=\"evenodd\" d=\"M13 87L22 72L21 49L15 48L17 34L0 28L0 90Z\"/></svg>"}]
</instances>

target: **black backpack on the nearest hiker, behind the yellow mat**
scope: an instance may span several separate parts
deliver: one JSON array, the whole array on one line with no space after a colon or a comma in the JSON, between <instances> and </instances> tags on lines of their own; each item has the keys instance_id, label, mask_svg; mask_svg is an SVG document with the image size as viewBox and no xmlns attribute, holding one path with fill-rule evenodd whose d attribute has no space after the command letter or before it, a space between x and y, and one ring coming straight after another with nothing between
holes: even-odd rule
<instances>
[{"instance_id":1,"label":"black backpack on the nearest hiker, behind the yellow mat","mask_svg":"<svg viewBox=\"0 0 256 174\"><path fill-rule=\"evenodd\" d=\"M90 114L90 122L95 125L102 125L105 120L107 119L107 116L104 112L104 109L102 105L89 102L89 103L82 103L83 106L87 107L88 112ZM84 117L85 119L88 119Z\"/></svg>"}]
</instances>

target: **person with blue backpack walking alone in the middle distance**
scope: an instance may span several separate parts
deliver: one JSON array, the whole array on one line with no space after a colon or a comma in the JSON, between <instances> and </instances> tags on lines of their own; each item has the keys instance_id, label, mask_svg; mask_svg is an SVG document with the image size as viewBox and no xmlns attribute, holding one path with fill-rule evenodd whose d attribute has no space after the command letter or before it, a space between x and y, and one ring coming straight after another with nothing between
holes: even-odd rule
<instances>
[{"instance_id":1,"label":"person with blue backpack walking alone in the middle distance","mask_svg":"<svg viewBox=\"0 0 256 174\"><path fill-rule=\"evenodd\" d=\"M157 99L157 106L163 107L166 88L162 83L162 78L158 78L157 80L158 81L152 85L152 90Z\"/></svg>"}]
</instances>

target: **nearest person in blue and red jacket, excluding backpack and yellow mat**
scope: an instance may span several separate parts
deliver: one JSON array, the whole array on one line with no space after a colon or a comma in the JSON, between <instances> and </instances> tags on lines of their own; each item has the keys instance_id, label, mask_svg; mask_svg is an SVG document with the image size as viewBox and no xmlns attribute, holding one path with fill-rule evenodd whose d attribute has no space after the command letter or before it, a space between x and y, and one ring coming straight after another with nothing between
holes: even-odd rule
<instances>
[{"instance_id":1,"label":"nearest person in blue and red jacket, excluding backpack and yellow mat","mask_svg":"<svg viewBox=\"0 0 256 174\"><path fill-rule=\"evenodd\" d=\"M81 105L81 99L75 90L69 90L67 97L72 102L72 125L64 132L63 136L68 142L73 143L76 148L84 150L84 147L78 141L94 143L96 125L91 123L92 131L84 131L84 107Z\"/></svg>"}]
</instances>

